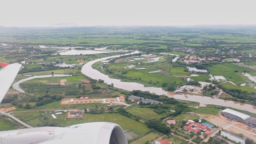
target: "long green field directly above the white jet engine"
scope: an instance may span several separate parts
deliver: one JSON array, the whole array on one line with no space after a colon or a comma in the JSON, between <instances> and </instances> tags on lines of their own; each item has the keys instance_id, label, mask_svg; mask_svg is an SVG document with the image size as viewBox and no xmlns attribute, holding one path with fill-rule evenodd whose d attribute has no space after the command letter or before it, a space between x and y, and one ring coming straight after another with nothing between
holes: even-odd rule
<instances>
[{"instance_id":1,"label":"long green field directly above the white jet engine","mask_svg":"<svg viewBox=\"0 0 256 144\"><path fill-rule=\"evenodd\" d=\"M42 113L44 112L22 113L16 114L15 116L31 126L36 126L42 122ZM147 128L147 126L142 122L138 122L118 113L84 114L84 119L66 119L67 115L65 112L58 115L57 119L54 119L52 118L51 114L52 113L49 112L44 113L50 122L59 124L62 127L88 122L114 122L119 124L123 130L129 129L129 131L132 131L138 135L144 134L149 130L149 128Z\"/></svg>"}]
</instances>

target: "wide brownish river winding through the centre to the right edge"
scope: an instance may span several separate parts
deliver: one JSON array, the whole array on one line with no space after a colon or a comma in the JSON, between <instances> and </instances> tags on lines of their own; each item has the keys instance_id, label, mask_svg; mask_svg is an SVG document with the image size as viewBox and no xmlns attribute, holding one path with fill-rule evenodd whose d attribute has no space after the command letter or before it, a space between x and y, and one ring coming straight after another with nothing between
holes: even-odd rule
<instances>
[{"instance_id":1,"label":"wide brownish river winding through the centre to the right edge","mask_svg":"<svg viewBox=\"0 0 256 144\"><path fill-rule=\"evenodd\" d=\"M136 54L136 53L139 53L139 52L135 51L135 52L132 52L131 54ZM128 55L128 54L123 54L123 55ZM102 74L98 70L95 70L92 68L92 65L95 64L96 62L100 62L102 60L107 60L110 58L117 58L123 55L109 56L106 58L99 58L99 59L87 62L82 67L82 73L96 80L98 79L104 80L104 82L107 84L113 83L114 87L121 88L128 91L132 91L132 90L149 91L158 95L165 94L170 98L176 98L179 100L189 100L193 102L199 102L200 106L206 106L207 104L214 104L214 105L228 106L228 107L256 113L256 106L252 106L250 104L244 104L244 103L234 102L230 100L222 100L222 99L210 98L207 96L198 96L198 95L192 95L192 94L174 94L173 92L164 91L162 90L162 88L144 87L143 84L139 84L136 82L121 82L121 80L110 78L109 76Z\"/></svg>"}]
</instances>

